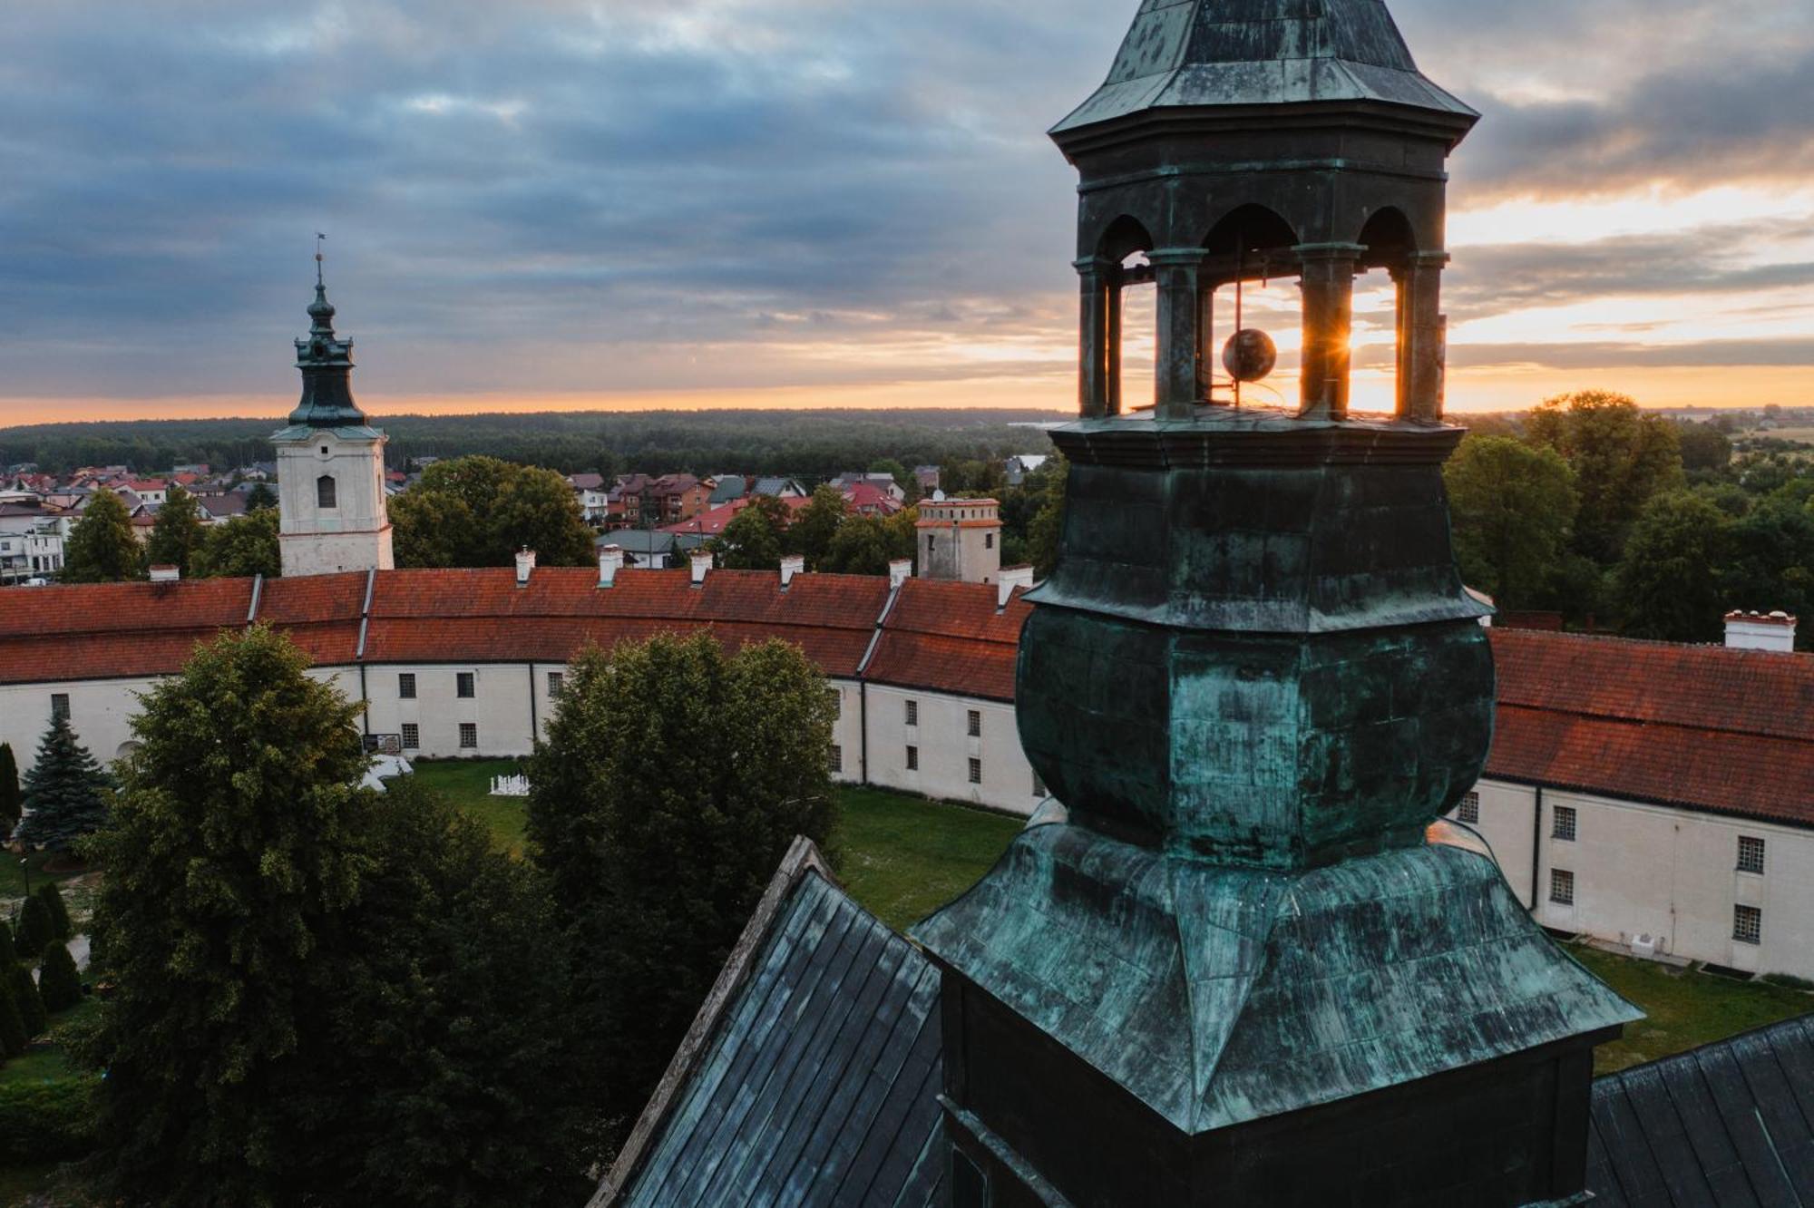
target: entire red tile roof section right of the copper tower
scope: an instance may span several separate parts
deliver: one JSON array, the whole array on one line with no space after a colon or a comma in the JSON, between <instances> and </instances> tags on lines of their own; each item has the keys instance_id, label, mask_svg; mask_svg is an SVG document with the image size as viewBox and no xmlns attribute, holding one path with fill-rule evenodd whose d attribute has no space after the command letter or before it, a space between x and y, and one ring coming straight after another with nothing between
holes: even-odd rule
<instances>
[{"instance_id":1,"label":"entire red tile roof section right of the copper tower","mask_svg":"<svg viewBox=\"0 0 1814 1208\"><path fill-rule=\"evenodd\" d=\"M1814 825L1814 658L1493 631L1487 774Z\"/></svg>"}]
</instances>

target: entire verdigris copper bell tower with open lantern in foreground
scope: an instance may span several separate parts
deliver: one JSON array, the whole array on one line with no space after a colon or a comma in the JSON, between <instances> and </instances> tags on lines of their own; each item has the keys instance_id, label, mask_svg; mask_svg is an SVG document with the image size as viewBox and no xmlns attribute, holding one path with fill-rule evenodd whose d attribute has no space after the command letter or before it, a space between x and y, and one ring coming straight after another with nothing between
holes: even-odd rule
<instances>
[{"instance_id":1,"label":"entire verdigris copper bell tower with open lantern in foreground","mask_svg":"<svg viewBox=\"0 0 1814 1208\"><path fill-rule=\"evenodd\" d=\"M1379 0L1145 0L1054 131L1083 419L1018 682L1054 800L916 929L954 1208L1578 1203L1593 1047L1638 1012L1424 838L1493 731L1440 475L1444 163L1473 122ZM1362 417L1366 268L1399 287L1399 386ZM1212 381L1217 290L1263 276L1302 287L1292 410ZM1123 415L1143 281L1156 406Z\"/></svg>"}]
</instances>

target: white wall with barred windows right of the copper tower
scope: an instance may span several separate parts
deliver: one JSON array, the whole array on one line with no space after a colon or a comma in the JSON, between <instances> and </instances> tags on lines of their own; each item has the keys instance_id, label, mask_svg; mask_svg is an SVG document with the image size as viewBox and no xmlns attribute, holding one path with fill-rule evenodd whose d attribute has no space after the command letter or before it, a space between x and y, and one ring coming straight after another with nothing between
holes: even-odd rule
<instances>
[{"instance_id":1,"label":"white wall with barred windows right of the copper tower","mask_svg":"<svg viewBox=\"0 0 1814 1208\"><path fill-rule=\"evenodd\" d=\"M1527 785L1480 784L1480 825L1520 900L1529 900L1533 811ZM1556 807L1576 836L1555 838ZM1747 972L1814 978L1814 833L1589 793L1544 791L1536 909L1546 927ZM1765 842L1763 874L1738 871L1740 836ZM1549 874L1575 874L1575 905L1549 901ZM1732 907L1763 911L1763 943L1732 938Z\"/></svg>"}]
</instances>

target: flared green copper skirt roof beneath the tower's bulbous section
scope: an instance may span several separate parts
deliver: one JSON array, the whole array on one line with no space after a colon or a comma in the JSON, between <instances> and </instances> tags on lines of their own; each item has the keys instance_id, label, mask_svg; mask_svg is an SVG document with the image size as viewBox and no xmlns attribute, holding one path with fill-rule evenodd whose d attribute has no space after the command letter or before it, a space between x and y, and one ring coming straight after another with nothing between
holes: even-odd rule
<instances>
[{"instance_id":1,"label":"flared green copper skirt roof beneath the tower's bulbous section","mask_svg":"<svg viewBox=\"0 0 1814 1208\"><path fill-rule=\"evenodd\" d=\"M1034 823L912 936L1186 1135L1642 1018L1455 847L1282 874Z\"/></svg>"}]
</instances>

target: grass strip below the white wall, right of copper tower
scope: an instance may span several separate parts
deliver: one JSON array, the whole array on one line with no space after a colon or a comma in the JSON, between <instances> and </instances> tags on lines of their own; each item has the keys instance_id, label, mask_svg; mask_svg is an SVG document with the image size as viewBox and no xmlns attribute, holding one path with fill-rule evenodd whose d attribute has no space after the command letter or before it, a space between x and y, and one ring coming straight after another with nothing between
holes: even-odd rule
<instances>
[{"instance_id":1,"label":"grass strip below the white wall, right of copper tower","mask_svg":"<svg viewBox=\"0 0 1814 1208\"><path fill-rule=\"evenodd\" d=\"M1649 1016L1627 1027L1622 1041L1595 1052L1595 1074L1613 1074L1814 1012L1814 994L1801 990L1734 981L1584 945L1571 945L1569 952Z\"/></svg>"}]
</instances>

